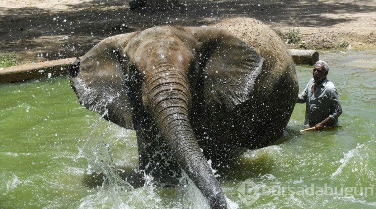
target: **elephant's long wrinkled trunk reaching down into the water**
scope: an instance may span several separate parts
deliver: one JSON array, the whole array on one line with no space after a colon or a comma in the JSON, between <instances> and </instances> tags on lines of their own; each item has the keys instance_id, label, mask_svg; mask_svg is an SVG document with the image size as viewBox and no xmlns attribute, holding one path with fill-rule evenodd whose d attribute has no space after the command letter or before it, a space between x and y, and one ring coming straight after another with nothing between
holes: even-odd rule
<instances>
[{"instance_id":1,"label":"elephant's long wrinkled trunk reaching down into the water","mask_svg":"<svg viewBox=\"0 0 376 209\"><path fill-rule=\"evenodd\" d=\"M189 121L191 93L187 78L177 71L154 71L145 77L143 99L177 162L209 200L211 208L227 208L226 196Z\"/></svg>"}]
</instances>

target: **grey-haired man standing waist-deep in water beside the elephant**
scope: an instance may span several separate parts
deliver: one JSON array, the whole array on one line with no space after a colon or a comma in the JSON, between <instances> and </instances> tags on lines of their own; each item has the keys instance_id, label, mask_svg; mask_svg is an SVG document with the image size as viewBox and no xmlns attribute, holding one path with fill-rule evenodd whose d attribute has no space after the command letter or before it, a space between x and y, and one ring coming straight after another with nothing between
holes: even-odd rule
<instances>
[{"instance_id":1,"label":"grey-haired man standing waist-deep in water beside the elephant","mask_svg":"<svg viewBox=\"0 0 376 209\"><path fill-rule=\"evenodd\" d=\"M313 68L313 78L298 95L297 103L307 103L304 125L320 130L324 126L335 126L342 114L337 89L326 78L329 66L324 61L317 61Z\"/></svg>"}]
</instances>

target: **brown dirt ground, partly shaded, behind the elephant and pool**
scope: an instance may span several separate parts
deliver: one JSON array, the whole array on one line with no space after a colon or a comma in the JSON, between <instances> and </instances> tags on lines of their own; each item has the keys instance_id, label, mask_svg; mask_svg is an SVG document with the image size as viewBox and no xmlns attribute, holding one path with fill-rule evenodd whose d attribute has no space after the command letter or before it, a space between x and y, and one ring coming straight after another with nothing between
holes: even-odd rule
<instances>
[{"instance_id":1,"label":"brown dirt ground, partly shaded, behind the elephant and pool","mask_svg":"<svg viewBox=\"0 0 376 209\"><path fill-rule=\"evenodd\" d=\"M129 10L120 0L0 0L0 53L44 61L84 55L100 40L159 25L202 26L232 17L299 30L290 49L376 48L376 0L180 0L178 10ZM348 45L339 48L340 45Z\"/></svg>"}]
</instances>

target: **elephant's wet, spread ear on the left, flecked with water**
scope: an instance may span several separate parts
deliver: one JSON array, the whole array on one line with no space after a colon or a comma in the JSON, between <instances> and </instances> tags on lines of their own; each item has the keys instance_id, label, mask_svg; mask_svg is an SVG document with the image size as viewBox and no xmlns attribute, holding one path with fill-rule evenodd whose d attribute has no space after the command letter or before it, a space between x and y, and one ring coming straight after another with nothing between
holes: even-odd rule
<instances>
[{"instance_id":1,"label":"elephant's wet, spread ear on the left, flecked with water","mask_svg":"<svg viewBox=\"0 0 376 209\"><path fill-rule=\"evenodd\" d=\"M70 78L83 106L127 129L133 129L133 119L128 75L123 70L128 69L129 62L122 56L122 50L136 34L122 34L99 42L82 58L79 73Z\"/></svg>"}]
</instances>

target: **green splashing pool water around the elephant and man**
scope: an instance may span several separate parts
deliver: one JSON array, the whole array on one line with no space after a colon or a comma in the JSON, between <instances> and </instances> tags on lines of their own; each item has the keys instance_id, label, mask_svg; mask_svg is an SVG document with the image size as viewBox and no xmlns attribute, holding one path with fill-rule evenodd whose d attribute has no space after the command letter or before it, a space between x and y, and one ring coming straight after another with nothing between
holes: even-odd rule
<instances>
[{"instance_id":1,"label":"green splashing pool water around the elephant and man","mask_svg":"<svg viewBox=\"0 0 376 209\"><path fill-rule=\"evenodd\" d=\"M320 58L338 89L342 128L301 134L305 105L297 104L281 143L229 165L235 174L221 185L231 208L376 207L376 51ZM297 66L300 91L311 70ZM175 188L148 178L129 189L116 175L103 187L83 185L86 169L113 174L115 166L137 166L134 131L80 106L67 77L0 85L0 208L207 208L184 178ZM247 179L258 195L239 189Z\"/></svg>"}]
</instances>

